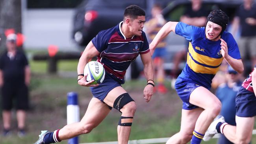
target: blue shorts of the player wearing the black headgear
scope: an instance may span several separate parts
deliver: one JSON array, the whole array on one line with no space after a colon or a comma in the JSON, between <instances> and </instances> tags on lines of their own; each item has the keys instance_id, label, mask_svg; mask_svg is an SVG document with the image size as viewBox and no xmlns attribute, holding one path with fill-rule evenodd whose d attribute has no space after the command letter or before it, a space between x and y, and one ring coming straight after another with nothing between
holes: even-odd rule
<instances>
[{"instance_id":1,"label":"blue shorts of the player wearing the black headgear","mask_svg":"<svg viewBox=\"0 0 256 144\"><path fill-rule=\"evenodd\" d=\"M175 89L177 91L178 96L183 102L182 109L191 110L191 109L198 108L198 106L189 103L190 94L197 87L200 87L200 85L197 85L193 81L189 81L187 79L183 79L180 77L177 78L175 82Z\"/></svg>"}]
</instances>

